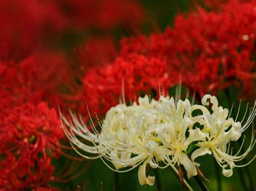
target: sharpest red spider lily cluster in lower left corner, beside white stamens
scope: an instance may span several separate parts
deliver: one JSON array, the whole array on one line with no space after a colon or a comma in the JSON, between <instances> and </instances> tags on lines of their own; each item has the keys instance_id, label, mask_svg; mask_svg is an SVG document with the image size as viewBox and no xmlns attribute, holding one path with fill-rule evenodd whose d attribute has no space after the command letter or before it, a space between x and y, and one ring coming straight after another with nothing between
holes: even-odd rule
<instances>
[{"instance_id":1,"label":"sharpest red spider lily cluster in lower left corner, beside white stamens","mask_svg":"<svg viewBox=\"0 0 256 191\"><path fill-rule=\"evenodd\" d=\"M51 157L60 155L51 145L63 137L56 111L25 103L1 109L0 116L0 188L44 186L54 170Z\"/></svg>"}]
</instances>

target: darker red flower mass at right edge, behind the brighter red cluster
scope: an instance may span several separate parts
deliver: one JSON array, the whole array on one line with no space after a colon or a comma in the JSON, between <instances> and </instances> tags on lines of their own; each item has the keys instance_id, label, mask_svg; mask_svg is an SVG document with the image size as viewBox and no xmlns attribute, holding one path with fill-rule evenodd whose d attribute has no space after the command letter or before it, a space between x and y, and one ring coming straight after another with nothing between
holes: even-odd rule
<instances>
[{"instance_id":1,"label":"darker red flower mass at right edge, behind the brighter red cluster","mask_svg":"<svg viewBox=\"0 0 256 191\"><path fill-rule=\"evenodd\" d=\"M198 8L177 16L164 33L124 38L120 55L132 52L164 59L183 83L203 95L231 84L252 90L255 79L256 2L227 3L220 13ZM253 72L254 71L254 72Z\"/></svg>"}]
</instances>

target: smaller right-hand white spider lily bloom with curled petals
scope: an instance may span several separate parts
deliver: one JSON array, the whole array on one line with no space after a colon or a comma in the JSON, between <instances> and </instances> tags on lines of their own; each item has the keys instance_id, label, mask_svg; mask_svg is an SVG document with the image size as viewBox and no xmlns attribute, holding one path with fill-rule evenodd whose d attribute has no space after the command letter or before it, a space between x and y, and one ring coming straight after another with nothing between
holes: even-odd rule
<instances>
[{"instance_id":1,"label":"smaller right-hand white spider lily bloom with curled petals","mask_svg":"<svg viewBox=\"0 0 256 191\"><path fill-rule=\"evenodd\" d=\"M235 162L244 159L246 155L252 150L255 144L255 133L253 130L251 143L244 153L240 154L241 148L244 144L244 140L239 151L236 154L232 154L232 150L230 151L229 148L231 141L237 141L241 137L241 133L244 132L248 128L248 126L250 126L251 123L253 122L253 119L256 114L256 103L254 103L254 107L250 111L247 121L244 123L244 125L241 125L241 123L245 119L246 113L241 123L236 122L238 115L235 121L233 120L233 118L229 118L230 116L228 116L228 110L223 109L222 107L218 107L218 100L215 96L205 95L202 99L202 104L208 105L208 100L210 100L210 102L212 103L213 113L210 114L210 111L208 111L205 108L204 110L201 110L203 111L203 115L194 117L201 125L204 126L204 129L201 131L206 133L207 136L205 140L200 140L198 142L198 146L200 148L198 148L196 151L192 153L191 158L194 161L194 159L201 155L213 154L218 164L223 168L223 175L229 177L232 176L232 169L234 167L246 166L250 164L250 162L252 162L255 158L254 155L252 160L245 165L235 164ZM192 111L196 109L201 109L201 105L194 105L190 111L190 115L192 114ZM230 169L226 169L228 166Z\"/></svg>"}]
</instances>

